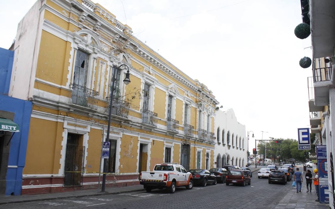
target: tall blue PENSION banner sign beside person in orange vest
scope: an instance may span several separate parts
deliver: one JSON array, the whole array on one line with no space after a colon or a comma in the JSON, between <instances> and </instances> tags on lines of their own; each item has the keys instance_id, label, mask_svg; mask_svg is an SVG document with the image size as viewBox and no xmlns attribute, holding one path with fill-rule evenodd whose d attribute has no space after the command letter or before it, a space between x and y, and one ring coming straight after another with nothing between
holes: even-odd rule
<instances>
[{"instance_id":1,"label":"tall blue PENSION banner sign beside person in orange vest","mask_svg":"<svg viewBox=\"0 0 335 209\"><path fill-rule=\"evenodd\" d=\"M316 156L317 156L317 161L318 161L320 203L329 203L327 146L317 145L316 146Z\"/></svg>"}]
</instances>

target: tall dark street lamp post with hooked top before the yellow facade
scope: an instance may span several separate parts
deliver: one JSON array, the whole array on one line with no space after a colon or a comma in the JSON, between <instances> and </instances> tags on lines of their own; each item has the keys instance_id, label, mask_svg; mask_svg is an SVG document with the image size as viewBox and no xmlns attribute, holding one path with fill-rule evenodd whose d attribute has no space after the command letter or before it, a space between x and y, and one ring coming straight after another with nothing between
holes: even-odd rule
<instances>
[{"instance_id":1,"label":"tall dark street lamp post with hooked top before the yellow facade","mask_svg":"<svg viewBox=\"0 0 335 209\"><path fill-rule=\"evenodd\" d=\"M115 81L117 80L117 76L118 76L118 71L122 71L122 70L125 70L127 69L127 73L126 73L126 77L125 79L123 80L123 82L128 85L130 83L130 79L129 79L129 76L130 76L130 73L129 73L129 68L127 65L120 65L118 68L114 68L114 71L113 71L113 77L112 77L112 89L111 89L111 103L110 103L110 106L109 106L109 114L108 114L108 126L107 126L107 136L105 138L105 141L108 141L109 140L109 132L110 132L110 129L111 129L111 118L112 118L112 104L113 104L113 97L114 97L114 91L116 90L116 84L115 84ZM105 158L104 159L104 169L103 169L103 183L102 183L102 187L101 187L101 192L105 192L105 185L106 185L106 170L107 170L107 159Z\"/></svg>"}]
</instances>

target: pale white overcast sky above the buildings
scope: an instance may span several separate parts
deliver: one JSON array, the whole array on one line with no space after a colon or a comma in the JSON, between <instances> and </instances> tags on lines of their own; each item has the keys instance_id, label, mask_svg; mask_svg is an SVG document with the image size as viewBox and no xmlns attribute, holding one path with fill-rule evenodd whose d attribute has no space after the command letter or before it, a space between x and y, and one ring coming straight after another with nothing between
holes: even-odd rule
<instances>
[{"instance_id":1,"label":"pale white overcast sky above the buildings","mask_svg":"<svg viewBox=\"0 0 335 209\"><path fill-rule=\"evenodd\" d=\"M0 47L34 0L1 2ZM233 108L256 139L297 139L309 126L307 77L299 60L311 57L310 37L295 37L302 23L298 0L96 0L165 59ZM124 9L123 9L123 5ZM10 18L8 18L10 17ZM311 57L312 58L312 57ZM255 141L250 137L252 150Z\"/></svg>"}]
</instances>

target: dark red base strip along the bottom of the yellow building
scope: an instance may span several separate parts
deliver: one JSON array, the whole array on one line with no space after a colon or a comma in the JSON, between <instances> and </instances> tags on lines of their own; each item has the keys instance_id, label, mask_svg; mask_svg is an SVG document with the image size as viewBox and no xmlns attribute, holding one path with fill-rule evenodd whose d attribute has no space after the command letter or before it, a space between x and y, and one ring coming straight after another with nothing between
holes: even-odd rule
<instances>
[{"instance_id":1,"label":"dark red base strip along the bottom of the yellow building","mask_svg":"<svg viewBox=\"0 0 335 209\"><path fill-rule=\"evenodd\" d=\"M22 195L71 192L98 188L98 176L84 176L81 186L64 186L64 177L24 177ZM100 188L102 176L100 177ZM138 175L108 175L106 188L139 185Z\"/></svg>"}]
</instances>

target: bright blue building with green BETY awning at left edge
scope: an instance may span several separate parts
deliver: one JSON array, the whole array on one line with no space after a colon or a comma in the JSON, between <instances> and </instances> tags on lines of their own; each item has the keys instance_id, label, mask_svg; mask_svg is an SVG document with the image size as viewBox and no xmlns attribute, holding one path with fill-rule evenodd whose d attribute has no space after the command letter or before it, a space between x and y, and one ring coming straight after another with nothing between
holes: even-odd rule
<instances>
[{"instance_id":1,"label":"bright blue building with green BETY awning at left edge","mask_svg":"<svg viewBox=\"0 0 335 209\"><path fill-rule=\"evenodd\" d=\"M0 195L21 195L31 101L8 96L14 51L0 48Z\"/></svg>"}]
</instances>

